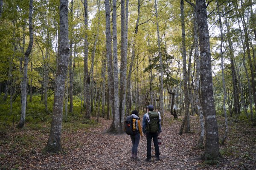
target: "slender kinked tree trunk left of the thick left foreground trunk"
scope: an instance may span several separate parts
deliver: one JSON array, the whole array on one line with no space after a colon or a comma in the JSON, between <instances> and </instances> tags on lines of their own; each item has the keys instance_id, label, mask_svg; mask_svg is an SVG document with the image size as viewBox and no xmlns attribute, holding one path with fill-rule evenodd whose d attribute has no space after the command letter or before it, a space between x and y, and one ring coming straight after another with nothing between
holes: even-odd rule
<instances>
[{"instance_id":1,"label":"slender kinked tree trunk left of the thick left foreground trunk","mask_svg":"<svg viewBox=\"0 0 256 170\"><path fill-rule=\"evenodd\" d=\"M27 86L27 79L28 79L28 62L29 62L29 54L32 51L33 46L33 23L32 23L32 13L33 13L33 0L29 1L29 46L26 49L25 58L24 58L24 67L23 67L23 80L22 80L22 103L21 103L21 115L20 115L20 122L18 127L22 128L25 123L26 119L26 86Z\"/></svg>"}]
</instances>

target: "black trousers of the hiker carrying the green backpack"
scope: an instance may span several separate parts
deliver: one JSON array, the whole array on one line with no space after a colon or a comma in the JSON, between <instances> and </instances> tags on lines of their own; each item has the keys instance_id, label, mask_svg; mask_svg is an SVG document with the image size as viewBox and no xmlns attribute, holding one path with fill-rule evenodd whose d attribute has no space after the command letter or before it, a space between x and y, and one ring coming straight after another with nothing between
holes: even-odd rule
<instances>
[{"instance_id":1,"label":"black trousers of the hiker carrying the green backpack","mask_svg":"<svg viewBox=\"0 0 256 170\"><path fill-rule=\"evenodd\" d=\"M153 138L153 142L154 142L154 147L156 150L156 158L159 158L159 146L158 146L158 142L157 142L157 133L150 133L147 132L147 158L151 159L151 142L152 142L152 138Z\"/></svg>"}]
</instances>

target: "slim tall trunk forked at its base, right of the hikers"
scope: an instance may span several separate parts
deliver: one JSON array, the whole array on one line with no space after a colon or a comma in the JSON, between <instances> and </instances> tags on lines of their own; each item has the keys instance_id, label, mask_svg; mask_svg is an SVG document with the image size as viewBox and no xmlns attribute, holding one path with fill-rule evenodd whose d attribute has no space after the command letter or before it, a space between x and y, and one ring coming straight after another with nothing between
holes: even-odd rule
<instances>
[{"instance_id":1,"label":"slim tall trunk forked at its base, right of the hikers","mask_svg":"<svg viewBox=\"0 0 256 170\"><path fill-rule=\"evenodd\" d=\"M185 116L180 126L179 135L182 135L183 128L186 123L186 133L190 132L189 121L189 93L188 93L188 73L186 70L186 45L185 45L185 19L184 19L184 1L180 0L180 19L181 19L181 31L182 31L182 63L183 63L183 88L184 88L184 103L185 103Z\"/></svg>"}]
</instances>

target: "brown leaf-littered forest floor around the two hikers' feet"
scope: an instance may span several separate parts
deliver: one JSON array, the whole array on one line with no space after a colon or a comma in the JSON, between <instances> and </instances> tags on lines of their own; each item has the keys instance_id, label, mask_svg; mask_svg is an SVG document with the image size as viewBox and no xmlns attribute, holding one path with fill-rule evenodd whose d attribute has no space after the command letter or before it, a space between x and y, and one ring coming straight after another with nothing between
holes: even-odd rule
<instances>
[{"instance_id":1,"label":"brown leaf-littered forest floor around the two hikers' feet","mask_svg":"<svg viewBox=\"0 0 256 170\"><path fill-rule=\"evenodd\" d=\"M140 113L142 115L142 113ZM179 117L177 121L171 120L173 116L169 113L165 114L165 125L162 127L162 144L160 145L160 162L152 158L152 162L145 162L146 158L146 139L140 140L138 147L139 161L131 161L131 139L129 135L110 135L102 133L111 125L111 120L100 118L99 125L88 130L76 130L70 133L63 130L62 147L63 152L59 154L42 153L41 150L45 146L48 133L44 132L43 136L36 135L37 132L29 132L35 136L39 143L35 148L24 150L20 155L15 150L10 150L4 144L1 144L1 155L4 153L5 158L0 157L0 165L7 165L6 169L47 169L47 170L199 170L199 169L253 169L255 168L255 148L251 150L254 155L250 155L250 159L245 159L243 153L241 157L230 156L222 159L219 167L215 165L202 165L201 160L196 158L202 155L204 150L194 149L198 140L198 117L191 116L192 133L183 133L178 135L180 128ZM96 119L93 117L93 119ZM255 127L254 127L255 128ZM6 134L5 137L14 138L12 135L22 135L27 133L21 130L13 134ZM34 134L33 134L34 133ZM239 134L237 134L239 136ZM253 134L250 134L253 135ZM242 140L239 145L244 145ZM246 140L244 141L246 142ZM228 146L225 146L228 147ZM232 146L237 149L238 146ZM244 152L248 152L253 147L253 143L248 148L244 147ZM153 142L152 142L152 148ZM239 151L241 152L241 150ZM154 156L154 150L152 150ZM226 157L226 156L224 156ZM243 161L241 164L241 161Z\"/></svg>"}]
</instances>

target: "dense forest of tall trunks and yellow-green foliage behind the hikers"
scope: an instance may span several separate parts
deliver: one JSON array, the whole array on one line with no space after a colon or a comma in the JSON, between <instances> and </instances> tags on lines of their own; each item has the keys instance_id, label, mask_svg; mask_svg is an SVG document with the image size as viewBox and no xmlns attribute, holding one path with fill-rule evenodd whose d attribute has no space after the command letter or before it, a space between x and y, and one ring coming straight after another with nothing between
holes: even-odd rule
<instances>
[{"instance_id":1,"label":"dense forest of tall trunks and yellow-green foliage behind the hikers","mask_svg":"<svg viewBox=\"0 0 256 170\"><path fill-rule=\"evenodd\" d=\"M179 135L196 116L203 159L221 157L230 124L256 125L255 3L0 0L1 144L45 124L44 150L58 153L62 126L107 119L122 134L125 116L153 104Z\"/></svg>"}]
</instances>

